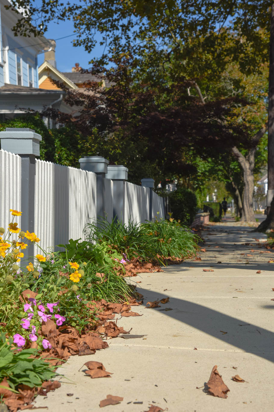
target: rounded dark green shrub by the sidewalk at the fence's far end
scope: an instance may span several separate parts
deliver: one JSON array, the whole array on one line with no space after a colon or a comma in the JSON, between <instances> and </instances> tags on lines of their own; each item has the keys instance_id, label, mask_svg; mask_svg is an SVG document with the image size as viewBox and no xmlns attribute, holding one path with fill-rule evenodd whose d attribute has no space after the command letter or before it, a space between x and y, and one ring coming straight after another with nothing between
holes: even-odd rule
<instances>
[{"instance_id":1,"label":"rounded dark green shrub by the sidewalk at the fence's far end","mask_svg":"<svg viewBox=\"0 0 274 412\"><path fill-rule=\"evenodd\" d=\"M196 215L197 199L195 193L185 188L177 188L169 194L173 218L185 225L191 225Z\"/></svg>"}]
</instances>

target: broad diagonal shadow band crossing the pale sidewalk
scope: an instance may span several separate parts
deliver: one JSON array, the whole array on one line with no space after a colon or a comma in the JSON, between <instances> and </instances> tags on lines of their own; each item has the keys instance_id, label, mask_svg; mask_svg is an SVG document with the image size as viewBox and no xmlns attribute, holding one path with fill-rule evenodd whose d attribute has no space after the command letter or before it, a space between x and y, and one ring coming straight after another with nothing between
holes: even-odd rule
<instances>
[{"instance_id":1,"label":"broad diagonal shadow band crossing the pale sidewalk","mask_svg":"<svg viewBox=\"0 0 274 412\"><path fill-rule=\"evenodd\" d=\"M138 288L138 292L144 295L144 306L147 301L152 302L163 297L169 297L161 292L158 293L142 288ZM237 306L237 310L241 309L241 304L252 304L251 302L247 303L238 299L237 301L238 302L231 302L231 304ZM172 311L161 311L161 314L168 318L176 319L177 321L207 333L207 335L242 349L245 352L253 353L261 358L274 362L274 332L261 328L255 323L246 325L246 321L243 321L241 318L234 318L184 299L170 297L170 302L167 305L162 305L161 309L166 306L173 309ZM159 310L159 308L149 310ZM269 311L265 311L265 315L271 316L272 314L270 314ZM227 333L222 335L220 331ZM163 331L159 331L159 333L160 332L163 333ZM199 345L202 346L202 342L195 342L197 349L199 349ZM214 349L214 342L212 342L212 346L212 349Z\"/></svg>"}]
</instances>

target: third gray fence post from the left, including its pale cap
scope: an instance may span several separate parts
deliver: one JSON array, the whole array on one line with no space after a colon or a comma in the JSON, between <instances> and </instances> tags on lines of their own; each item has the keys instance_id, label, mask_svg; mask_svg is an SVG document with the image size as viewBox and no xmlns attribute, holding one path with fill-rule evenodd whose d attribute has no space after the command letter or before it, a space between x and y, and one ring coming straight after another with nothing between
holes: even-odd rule
<instances>
[{"instance_id":1,"label":"third gray fence post from the left, including its pale cap","mask_svg":"<svg viewBox=\"0 0 274 412\"><path fill-rule=\"evenodd\" d=\"M113 181L113 219L124 224L124 182L129 169L120 164L108 165L107 179Z\"/></svg>"}]
</instances>

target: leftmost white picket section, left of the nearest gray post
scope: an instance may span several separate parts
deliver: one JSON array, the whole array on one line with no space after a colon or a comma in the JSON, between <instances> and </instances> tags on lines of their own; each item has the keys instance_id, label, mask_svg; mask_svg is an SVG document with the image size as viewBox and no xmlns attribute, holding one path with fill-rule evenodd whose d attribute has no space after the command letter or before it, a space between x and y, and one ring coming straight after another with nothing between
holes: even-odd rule
<instances>
[{"instance_id":1,"label":"leftmost white picket section, left of the nearest gray post","mask_svg":"<svg viewBox=\"0 0 274 412\"><path fill-rule=\"evenodd\" d=\"M12 221L10 209L21 211L21 157L14 153L0 150L0 227L7 234L9 222ZM21 211L22 212L22 211ZM14 219L21 228L21 217ZM11 239L17 239L13 234Z\"/></svg>"}]
</instances>

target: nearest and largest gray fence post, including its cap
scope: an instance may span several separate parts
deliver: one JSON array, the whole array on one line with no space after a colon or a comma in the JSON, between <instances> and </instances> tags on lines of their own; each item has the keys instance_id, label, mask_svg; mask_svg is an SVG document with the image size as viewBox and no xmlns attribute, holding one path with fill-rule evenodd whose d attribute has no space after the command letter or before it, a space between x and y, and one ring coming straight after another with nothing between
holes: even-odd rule
<instances>
[{"instance_id":1,"label":"nearest and largest gray fence post, including its cap","mask_svg":"<svg viewBox=\"0 0 274 412\"><path fill-rule=\"evenodd\" d=\"M1 148L21 157L21 229L34 232L35 209L35 156L40 156L41 135L28 128L6 127L0 132ZM39 233L36 235L39 237ZM24 250L25 267L33 262L34 245Z\"/></svg>"}]
</instances>

